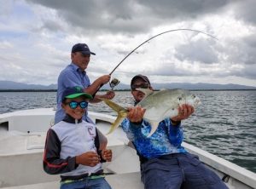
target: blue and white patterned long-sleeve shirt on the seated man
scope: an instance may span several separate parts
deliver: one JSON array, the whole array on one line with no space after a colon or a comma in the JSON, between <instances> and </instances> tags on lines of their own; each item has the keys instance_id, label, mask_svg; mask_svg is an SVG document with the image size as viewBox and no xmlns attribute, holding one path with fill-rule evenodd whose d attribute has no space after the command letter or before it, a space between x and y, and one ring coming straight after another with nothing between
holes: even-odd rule
<instances>
[{"instance_id":1,"label":"blue and white patterned long-sleeve shirt on the seated man","mask_svg":"<svg viewBox=\"0 0 256 189\"><path fill-rule=\"evenodd\" d=\"M131 123L127 118L121 123L129 140L143 158L158 158L162 155L186 152L183 146L183 129L181 125L173 126L170 119L160 122L153 135L147 137L151 126L143 121L141 124Z\"/></svg>"}]
</instances>

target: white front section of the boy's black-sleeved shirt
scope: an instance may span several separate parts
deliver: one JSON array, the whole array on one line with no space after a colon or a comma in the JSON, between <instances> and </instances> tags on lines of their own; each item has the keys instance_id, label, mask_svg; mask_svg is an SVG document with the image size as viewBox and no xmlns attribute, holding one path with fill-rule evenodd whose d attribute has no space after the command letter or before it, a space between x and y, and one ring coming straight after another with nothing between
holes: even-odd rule
<instances>
[{"instance_id":1,"label":"white front section of the boy's black-sleeved shirt","mask_svg":"<svg viewBox=\"0 0 256 189\"><path fill-rule=\"evenodd\" d=\"M61 143L60 159L65 160L74 158L84 152L96 152L95 138L96 126L87 123L84 120L81 123L67 123L61 121L56 123L52 128ZM73 166L72 166L73 167ZM96 173L102 169L102 163L98 163L95 167L84 166L79 164L76 169L70 172L61 173L62 176L84 175L88 173Z\"/></svg>"}]
</instances>

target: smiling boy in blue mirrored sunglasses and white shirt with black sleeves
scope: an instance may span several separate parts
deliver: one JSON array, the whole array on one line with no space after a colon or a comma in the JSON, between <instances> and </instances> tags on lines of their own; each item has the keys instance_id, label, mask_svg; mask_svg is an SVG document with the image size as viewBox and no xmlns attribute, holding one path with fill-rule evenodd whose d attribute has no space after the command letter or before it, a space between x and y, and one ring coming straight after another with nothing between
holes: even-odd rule
<instances>
[{"instance_id":1,"label":"smiling boy in blue mirrored sunglasses and white shirt with black sleeves","mask_svg":"<svg viewBox=\"0 0 256 189\"><path fill-rule=\"evenodd\" d=\"M61 189L111 189L103 176L102 162L110 162L111 150L99 150L96 125L82 117L92 99L80 87L67 88L61 97L66 117L49 129L44 148L44 171L61 174Z\"/></svg>"}]
</instances>

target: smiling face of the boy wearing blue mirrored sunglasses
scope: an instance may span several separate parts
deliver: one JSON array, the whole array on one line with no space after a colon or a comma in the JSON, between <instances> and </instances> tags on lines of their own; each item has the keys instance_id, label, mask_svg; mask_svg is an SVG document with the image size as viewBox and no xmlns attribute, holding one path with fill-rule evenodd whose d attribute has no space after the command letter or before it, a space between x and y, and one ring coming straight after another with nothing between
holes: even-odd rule
<instances>
[{"instance_id":1,"label":"smiling face of the boy wearing blue mirrored sunglasses","mask_svg":"<svg viewBox=\"0 0 256 189\"><path fill-rule=\"evenodd\" d=\"M62 103L62 108L64 109L64 111L71 117L73 117L74 119L80 119L83 117L84 112L86 111L86 109L81 108L81 106L77 106L76 108L71 108L69 106L70 102L81 102L81 101L87 101L87 99L84 96L79 96L77 98L74 99L66 99L64 103Z\"/></svg>"}]
</instances>

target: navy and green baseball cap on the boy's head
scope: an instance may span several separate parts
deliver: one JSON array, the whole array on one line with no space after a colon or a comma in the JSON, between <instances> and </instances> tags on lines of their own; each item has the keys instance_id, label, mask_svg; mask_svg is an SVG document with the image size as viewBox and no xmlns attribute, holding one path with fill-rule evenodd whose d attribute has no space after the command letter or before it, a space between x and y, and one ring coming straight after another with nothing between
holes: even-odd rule
<instances>
[{"instance_id":1,"label":"navy and green baseball cap on the boy's head","mask_svg":"<svg viewBox=\"0 0 256 189\"><path fill-rule=\"evenodd\" d=\"M86 99L93 99L90 94L84 93L83 88L75 86L73 88L67 88L63 91L61 101L64 102L66 99L74 99L81 95L84 95Z\"/></svg>"}]
</instances>

